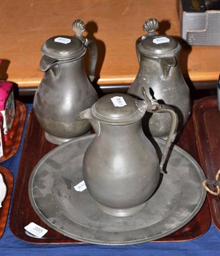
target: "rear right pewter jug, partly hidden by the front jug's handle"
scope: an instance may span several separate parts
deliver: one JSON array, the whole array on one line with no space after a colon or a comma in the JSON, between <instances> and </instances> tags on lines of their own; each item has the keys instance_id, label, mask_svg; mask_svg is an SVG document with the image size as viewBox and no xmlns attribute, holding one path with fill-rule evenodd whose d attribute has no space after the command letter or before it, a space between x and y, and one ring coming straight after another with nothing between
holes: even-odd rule
<instances>
[{"instance_id":1,"label":"rear right pewter jug, partly hidden by the front jug's handle","mask_svg":"<svg viewBox=\"0 0 220 256\"><path fill-rule=\"evenodd\" d=\"M155 35L159 28L156 19L147 20L143 26L148 35L138 38L136 51L139 71L128 93L143 99L143 86L153 99L172 106L178 115L178 128L173 140L178 138L191 112L189 88L178 65L180 44L167 35ZM169 134L171 118L168 114L146 113L143 118L145 134L166 139Z\"/></svg>"}]
</instances>

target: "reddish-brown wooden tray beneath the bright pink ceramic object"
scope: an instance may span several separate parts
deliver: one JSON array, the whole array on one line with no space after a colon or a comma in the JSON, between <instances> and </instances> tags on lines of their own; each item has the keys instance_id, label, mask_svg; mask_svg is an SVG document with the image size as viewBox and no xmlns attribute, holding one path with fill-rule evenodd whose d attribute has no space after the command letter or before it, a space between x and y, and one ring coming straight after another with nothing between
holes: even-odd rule
<instances>
[{"instance_id":1,"label":"reddish-brown wooden tray beneath the bright pink ceramic object","mask_svg":"<svg viewBox=\"0 0 220 256\"><path fill-rule=\"evenodd\" d=\"M12 129L8 131L8 141L5 142L4 155L0 157L0 162L9 159L17 152L22 138L26 118L26 106L22 102L15 100L15 108Z\"/></svg>"}]
</instances>

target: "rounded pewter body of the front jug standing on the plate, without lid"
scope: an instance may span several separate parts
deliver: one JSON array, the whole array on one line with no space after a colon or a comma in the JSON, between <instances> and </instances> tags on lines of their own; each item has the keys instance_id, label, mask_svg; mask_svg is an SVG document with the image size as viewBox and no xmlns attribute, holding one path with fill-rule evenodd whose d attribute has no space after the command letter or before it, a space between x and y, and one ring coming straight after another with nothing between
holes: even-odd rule
<instances>
[{"instance_id":1,"label":"rounded pewter body of the front jug standing on the plate, without lid","mask_svg":"<svg viewBox=\"0 0 220 256\"><path fill-rule=\"evenodd\" d=\"M100 135L84 156L83 177L102 211L136 214L155 191L159 175L159 159L141 120L125 126L100 124Z\"/></svg>"}]
</instances>

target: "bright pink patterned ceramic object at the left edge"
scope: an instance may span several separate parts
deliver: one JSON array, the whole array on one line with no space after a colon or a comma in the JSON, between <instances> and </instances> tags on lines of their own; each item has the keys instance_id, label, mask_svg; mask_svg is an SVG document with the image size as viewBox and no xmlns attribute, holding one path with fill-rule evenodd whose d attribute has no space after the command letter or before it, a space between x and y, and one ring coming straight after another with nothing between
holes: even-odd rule
<instances>
[{"instance_id":1,"label":"bright pink patterned ceramic object at the left edge","mask_svg":"<svg viewBox=\"0 0 220 256\"><path fill-rule=\"evenodd\" d=\"M0 113L3 115L4 140L7 141L15 117L13 84L8 81L0 81Z\"/></svg>"}]
</instances>

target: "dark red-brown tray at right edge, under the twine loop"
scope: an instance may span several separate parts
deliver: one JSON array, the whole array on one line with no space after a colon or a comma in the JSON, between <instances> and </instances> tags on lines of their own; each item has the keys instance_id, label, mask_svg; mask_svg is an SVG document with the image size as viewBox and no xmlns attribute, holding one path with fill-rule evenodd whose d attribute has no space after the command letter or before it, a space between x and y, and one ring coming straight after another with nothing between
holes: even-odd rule
<instances>
[{"instance_id":1,"label":"dark red-brown tray at right edge, under the twine loop","mask_svg":"<svg viewBox=\"0 0 220 256\"><path fill-rule=\"evenodd\" d=\"M205 97L194 104L193 123L201 166L207 179L216 179L220 169L220 112L216 97ZM208 193L208 203L214 225L220 230L220 196Z\"/></svg>"}]
</instances>

